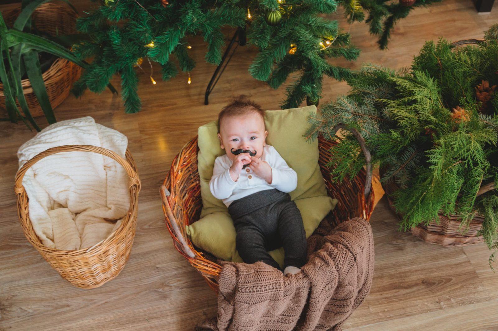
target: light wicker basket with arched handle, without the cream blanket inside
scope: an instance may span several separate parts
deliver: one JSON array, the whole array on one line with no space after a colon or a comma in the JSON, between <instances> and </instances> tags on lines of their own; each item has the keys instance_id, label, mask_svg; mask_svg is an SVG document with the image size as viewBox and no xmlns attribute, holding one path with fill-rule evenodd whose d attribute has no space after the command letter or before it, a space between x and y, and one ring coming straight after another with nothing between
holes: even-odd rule
<instances>
[{"instance_id":1,"label":"light wicker basket with arched handle, without the cream blanket inside","mask_svg":"<svg viewBox=\"0 0 498 331\"><path fill-rule=\"evenodd\" d=\"M56 153L92 152L116 160L128 174L130 206L121 226L104 241L90 248L79 250L59 250L42 245L36 236L29 219L28 197L22 178L26 171L39 160ZM17 195L17 214L27 240L38 250L43 258L59 272L62 278L81 288L95 288L114 279L128 260L135 237L136 214L138 211L138 192L140 179L131 154L126 150L126 160L113 151L89 145L67 145L50 148L26 162L15 175L15 193Z\"/></svg>"}]
</instances>

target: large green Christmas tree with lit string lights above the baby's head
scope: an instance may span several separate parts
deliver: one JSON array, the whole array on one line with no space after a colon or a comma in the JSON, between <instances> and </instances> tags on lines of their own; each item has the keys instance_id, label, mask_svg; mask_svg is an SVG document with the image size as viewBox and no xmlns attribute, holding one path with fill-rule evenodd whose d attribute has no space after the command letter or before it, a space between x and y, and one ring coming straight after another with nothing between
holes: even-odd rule
<instances>
[{"instance_id":1,"label":"large green Christmas tree with lit string lights above the baby's head","mask_svg":"<svg viewBox=\"0 0 498 331\"><path fill-rule=\"evenodd\" d=\"M165 81L178 68L190 72L195 61L188 54L188 37L194 34L207 43L205 60L219 64L225 46L221 28L230 26L246 29L248 43L259 50L249 67L252 77L278 88L299 72L287 87L283 108L298 107L305 99L317 104L324 75L338 81L350 76L348 69L329 64L327 58L355 60L360 53L349 46L349 35L337 21L319 17L336 6L334 0L105 0L78 20L78 30L91 41L75 45L74 52L93 62L74 91L77 96L86 88L102 92L119 74L125 111L137 112L135 67L158 62Z\"/></svg>"}]
</instances>

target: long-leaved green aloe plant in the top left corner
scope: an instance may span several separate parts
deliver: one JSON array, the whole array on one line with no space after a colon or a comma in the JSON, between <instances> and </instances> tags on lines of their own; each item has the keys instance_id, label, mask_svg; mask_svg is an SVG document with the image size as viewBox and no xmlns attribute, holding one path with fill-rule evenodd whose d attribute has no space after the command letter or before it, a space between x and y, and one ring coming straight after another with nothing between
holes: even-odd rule
<instances>
[{"instance_id":1,"label":"long-leaved green aloe plant in the top left corner","mask_svg":"<svg viewBox=\"0 0 498 331\"><path fill-rule=\"evenodd\" d=\"M41 65L38 58L39 52L46 52L57 57L69 60L85 68L88 64L78 59L65 46L52 40L43 38L33 33L23 32L30 24L31 14L39 5L49 2L50 0L24 0L23 8L15 20L12 28L7 28L3 16L0 13L0 52L2 59L0 61L0 80L3 84L3 94L5 95L5 108L8 119L17 123L20 118L29 127L31 126L40 131L24 97L21 85L21 76L25 71L33 91L40 103L45 117L49 124L55 123L55 115L48 99L45 83L42 78ZM74 6L67 0L62 0L70 5L76 11ZM77 40L82 36L73 38ZM117 93L112 85L109 88ZM17 98L24 115L19 111L15 103ZM26 120L28 122L26 122Z\"/></svg>"}]
</instances>

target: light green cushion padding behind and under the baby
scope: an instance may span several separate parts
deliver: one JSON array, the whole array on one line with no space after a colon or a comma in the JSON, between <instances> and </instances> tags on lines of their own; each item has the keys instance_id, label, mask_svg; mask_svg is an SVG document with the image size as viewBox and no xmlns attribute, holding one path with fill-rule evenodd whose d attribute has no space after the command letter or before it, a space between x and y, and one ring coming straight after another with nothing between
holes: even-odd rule
<instances>
[{"instance_id":1,"label":"light green cushion padding behind and under the baby","mask_svg":"<svg viewBox=\"0 0 498 331\"><path fill-rule=\"evenodd\" d=\"M308 127L308 116L310 113L316 114L316 107L267 110L264 113L268 131L266 143L273 146L297 172L297 188L290 192L290 196L301 212L308 238L337 204L336 199L327 196L318 165L318 141L309 143L303 137ZM225 154L225 150L220 147L217 133L217 121L209 122L198 130L197 166L203 208L201 219L187 227L187 234L195 246L221 259L242 262L235 248L236 233L228 209L209 190L215 159ZM283 248L271 251L270 255L282 266Z\"/></svg>"}]
</instances>

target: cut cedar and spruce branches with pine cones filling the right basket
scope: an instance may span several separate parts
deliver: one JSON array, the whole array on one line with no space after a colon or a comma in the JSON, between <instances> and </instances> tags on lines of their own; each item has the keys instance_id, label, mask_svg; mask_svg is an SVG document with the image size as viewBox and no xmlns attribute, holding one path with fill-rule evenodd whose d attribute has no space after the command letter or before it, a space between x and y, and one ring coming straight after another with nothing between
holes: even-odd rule
<instances>
[{"instance_id":1,"label":"cut cedar and spruce branches with pine cones filling the right basket","mask_svg":"<svg viewBox=\"0 0 498 331\"><path fill-rule=\"evenodd\" d=\"M498 25L497 25L498 26ZM462 232L477 214L484 215L482 235L498 249L498 97L486 107L477 85L498 84L497 26L478 46L453 47L440 39L427 42L411 69L394 72L363 66L348 79L349 95L337 98L309 119L308 139L330 133L339 123L360 131L382 169L382 182L394 181L401 228L438 221L438 213L459 215ZM458 118L453 110L463 108ZM342 133L329 165L337 180L355 176L365 165L356 139ZM479 189L494 189L478 196ZM490 263L494 260L493 253Z\"/></svg>"}]
</instances>

